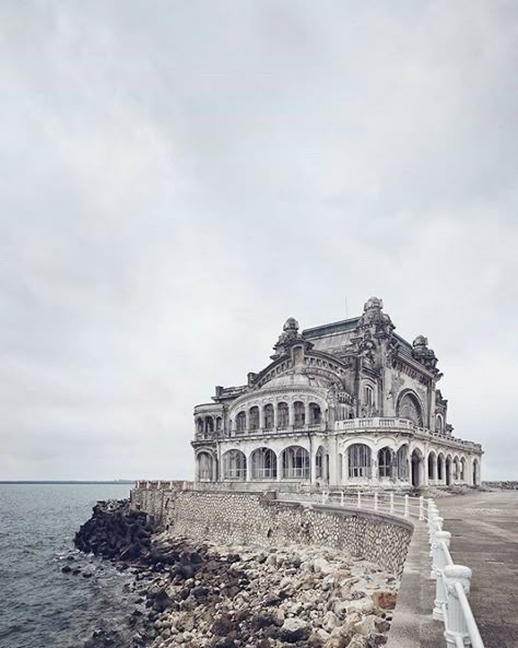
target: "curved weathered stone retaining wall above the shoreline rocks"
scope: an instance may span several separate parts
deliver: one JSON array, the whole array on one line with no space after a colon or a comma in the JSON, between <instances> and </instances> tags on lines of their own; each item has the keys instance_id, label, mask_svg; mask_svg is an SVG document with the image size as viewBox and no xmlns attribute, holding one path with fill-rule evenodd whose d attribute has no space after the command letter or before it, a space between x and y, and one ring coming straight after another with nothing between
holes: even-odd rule
<instances>
[{"instance_id":1,"label":"curved weathered stone retaining wall above the shoreline rocks","mask_svg":"<svg viewBox=\"0 0 518 648\"><path fill-rule=\"evenodd\" d=\"M132 491L140 507L175 534L225 543L331 546L400 575L412 525L386 515L276 502L274 494Z\"/></svg>"}]
</instances>

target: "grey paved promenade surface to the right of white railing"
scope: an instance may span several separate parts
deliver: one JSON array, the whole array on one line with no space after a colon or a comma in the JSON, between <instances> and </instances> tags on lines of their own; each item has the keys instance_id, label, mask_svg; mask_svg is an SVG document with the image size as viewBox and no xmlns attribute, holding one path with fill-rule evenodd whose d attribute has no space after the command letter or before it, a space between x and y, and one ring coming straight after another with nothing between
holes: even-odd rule
<instances>
[{"instance_id":1,"label":"grey paved promenade surface to the right of white railing","mask_svg":"<svg viewBox=\"0 0 518 648\"><path fill-rule=\"evenodd\" d=\"M518 648L518 492L436 502L454 562L473 570L470 603L485 648Z\"/></svg>"}]
</instances>

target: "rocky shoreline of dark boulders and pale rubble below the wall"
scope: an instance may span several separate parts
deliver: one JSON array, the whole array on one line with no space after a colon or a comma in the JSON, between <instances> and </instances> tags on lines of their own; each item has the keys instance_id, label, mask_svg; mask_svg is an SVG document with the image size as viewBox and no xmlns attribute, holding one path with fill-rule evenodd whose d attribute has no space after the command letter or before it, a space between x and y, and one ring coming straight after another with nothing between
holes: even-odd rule
<instances>
[{"instance_id":1,"label":"rocky shoreline of dark boulders and pale rubble below the wall","mask_svg":"<svg viewBox=\"0 0 518 648\"><path fill-rule=\"evenodd\" d=\"M387 641L398 579L326 547L227 546L156 532L128 504L99 503L82 551L131 575L128 648L374 648ZM87 648L117 646L102 633Z\"/></svg>"}]
</instances>

